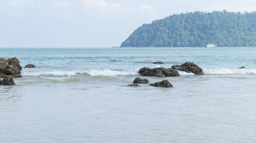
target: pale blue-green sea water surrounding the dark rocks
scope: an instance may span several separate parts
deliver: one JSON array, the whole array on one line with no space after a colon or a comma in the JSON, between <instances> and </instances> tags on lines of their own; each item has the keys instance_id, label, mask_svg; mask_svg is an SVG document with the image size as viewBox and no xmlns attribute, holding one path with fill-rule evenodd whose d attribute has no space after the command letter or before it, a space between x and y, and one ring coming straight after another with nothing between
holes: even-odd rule
<instances>
[{"instance_id":1,"label":"pale blue-green sea water surrounding the dark rocks","mask_svg":"<svg viewBox=\"0 0 256 143\"><path fill-rule=\"evenodd\" d=\"M37 67L0 86L0 142L256 141L256 48L0 48L0 56ZM205 75L137 73L184 62ZM136 77L174 88L127 87Z\"/></svg>"}]
</instances>

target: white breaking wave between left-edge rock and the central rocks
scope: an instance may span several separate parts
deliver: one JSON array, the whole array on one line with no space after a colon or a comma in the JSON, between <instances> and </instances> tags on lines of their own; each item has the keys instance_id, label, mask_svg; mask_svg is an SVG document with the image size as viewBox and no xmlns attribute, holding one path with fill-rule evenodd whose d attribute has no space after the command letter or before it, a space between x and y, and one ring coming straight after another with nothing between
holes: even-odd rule
<instances>
[{"instance_id":1,"label":"white breaking wave between left-edge rock and the central rocks","mask_svg":"<svg viewBox=\"0 0 256 143\"><path fill-rule=\"evenodd\" d=\"M46 71L46 72L22 72L22 76L74 76L76 74L89 74L91 76L118 76L138 75L137 71L113 71L113 70L82 70L82 71Z\"/></svg>"}]
</instances>

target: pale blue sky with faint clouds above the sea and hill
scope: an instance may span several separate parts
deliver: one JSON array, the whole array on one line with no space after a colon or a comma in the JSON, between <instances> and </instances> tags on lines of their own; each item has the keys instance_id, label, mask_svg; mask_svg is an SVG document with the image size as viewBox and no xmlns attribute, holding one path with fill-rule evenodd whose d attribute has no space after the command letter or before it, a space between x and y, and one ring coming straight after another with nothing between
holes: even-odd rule
<instances>
[{"instance_id":1,"label":"pale blue sky with faint clouds above the sea and hill","mask_svg":"<svg viewBox=\"0 0 256 143\"><path fill-rule=\"evenodd\" d=\"M1 0L0 47L113 47L174 13L252 12L255 0Z\"/></svg>"}]
</instances>

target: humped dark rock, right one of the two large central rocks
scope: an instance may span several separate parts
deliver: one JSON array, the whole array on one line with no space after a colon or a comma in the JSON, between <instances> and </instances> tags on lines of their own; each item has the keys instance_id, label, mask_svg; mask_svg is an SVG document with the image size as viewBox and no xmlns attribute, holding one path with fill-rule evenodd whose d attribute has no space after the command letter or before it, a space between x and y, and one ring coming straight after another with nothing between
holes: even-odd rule
<instances>
[{"instance_id":1,"label":"humped dark rock, right one of the two large central rocks","mask_svg":"<svg viewBox=\"0 0 256 143\"><path fill-rule=\"evenodd\" d=\"M182 65L174 65L172 66L172 69L200 75L204 74L199 66L191 62L186 62Z\"/></svg>"}]
</instances>

